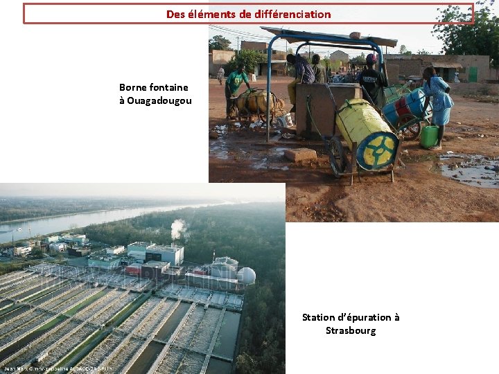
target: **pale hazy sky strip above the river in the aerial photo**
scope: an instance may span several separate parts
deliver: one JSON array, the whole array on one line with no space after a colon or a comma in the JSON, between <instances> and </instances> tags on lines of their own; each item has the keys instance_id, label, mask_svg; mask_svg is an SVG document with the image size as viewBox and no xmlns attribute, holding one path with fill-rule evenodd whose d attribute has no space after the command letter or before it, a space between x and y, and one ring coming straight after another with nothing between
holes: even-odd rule
<instances>
[{"instance_id":1,"label":"pale hazy sky strip above the river in the aerial photo","mask_svg":"<svg viewBox=\"0 0 499 374\"><path fill-rule=\"evenodd\" d=\"M0 184L0 196L136 196L283 202L284 184Z\"/></svg>"}]
</instances>

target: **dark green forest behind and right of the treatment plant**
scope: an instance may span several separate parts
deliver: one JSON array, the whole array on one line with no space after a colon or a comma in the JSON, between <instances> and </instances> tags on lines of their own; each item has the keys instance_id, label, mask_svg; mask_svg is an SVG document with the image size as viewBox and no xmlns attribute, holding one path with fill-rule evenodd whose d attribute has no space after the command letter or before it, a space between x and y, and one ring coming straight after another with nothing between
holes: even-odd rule
<instances>
[{"instance_id":1,"label":"dark green forest behind and right of the treatment plant","mask_svg":"<svg viewBox=\"0 0 499 374\"><path fill-rule=\"evenodd\" d=\"M256 272L245 294L238 373L285 371L285 208L283 204L240 204L152 213L82 229L91 240L127 245L171 242L171 224L184 220L178 245L185 260L211 262L229 256Z\"/></svg>"}]
</instances>

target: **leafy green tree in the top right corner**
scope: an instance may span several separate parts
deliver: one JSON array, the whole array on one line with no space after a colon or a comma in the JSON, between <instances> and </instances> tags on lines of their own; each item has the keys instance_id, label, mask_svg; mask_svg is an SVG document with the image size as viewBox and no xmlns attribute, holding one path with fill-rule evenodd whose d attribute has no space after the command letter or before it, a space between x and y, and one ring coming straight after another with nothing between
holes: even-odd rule
<instances>
[{"instance_id":1,"label":"leafy green tree in the top right corner","mask_svg":"<svg viewBox=\"0 0 499 374\"><path fill-rule=\"evenodd\" d=\"M489 55L491 66L499 67L499 18L489 8L493 3L494 0L476 3L474 24L433 26L432 34L444 43L441 52L446 55ZM470 19L471 8L462 12L458 6L447 6L437 17L439 22L466 22Z\"/></svg>"}]
</instances>

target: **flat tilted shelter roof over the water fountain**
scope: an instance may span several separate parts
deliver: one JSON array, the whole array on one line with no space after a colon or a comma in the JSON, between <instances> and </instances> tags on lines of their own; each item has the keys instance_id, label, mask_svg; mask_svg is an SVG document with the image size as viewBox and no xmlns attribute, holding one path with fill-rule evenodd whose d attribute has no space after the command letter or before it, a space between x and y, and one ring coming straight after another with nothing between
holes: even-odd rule
<instances>
[{"instance_id":1,"label":"flat tilted shelter roof over the water fountain","mask_svg":"<svg viewBox=\"0 0 499 374\"><path fill-rule=\"evenodd\" d=\"M352 46L358 45L359 41L366 41L366 42L374 42L378 44L378 46L394 47L398 42L398 40L395 39L383 39L382 37L368 36L368 37L360 37L360 39L353 39L349 37L349 35L311 33L308 31L286 30L283 28L264 27L264 26L261 26L261 28L274 35L286 34L286 37L283 37L282 39L287 40L288 43L303 42L304 40L306 40L306 42L324 42L325 39L331 39L333 42L336 43L340 42L342 44L352 45ZM293 37L294 35L296 35L296 37Z\"/></svg>"}]
</instances>

